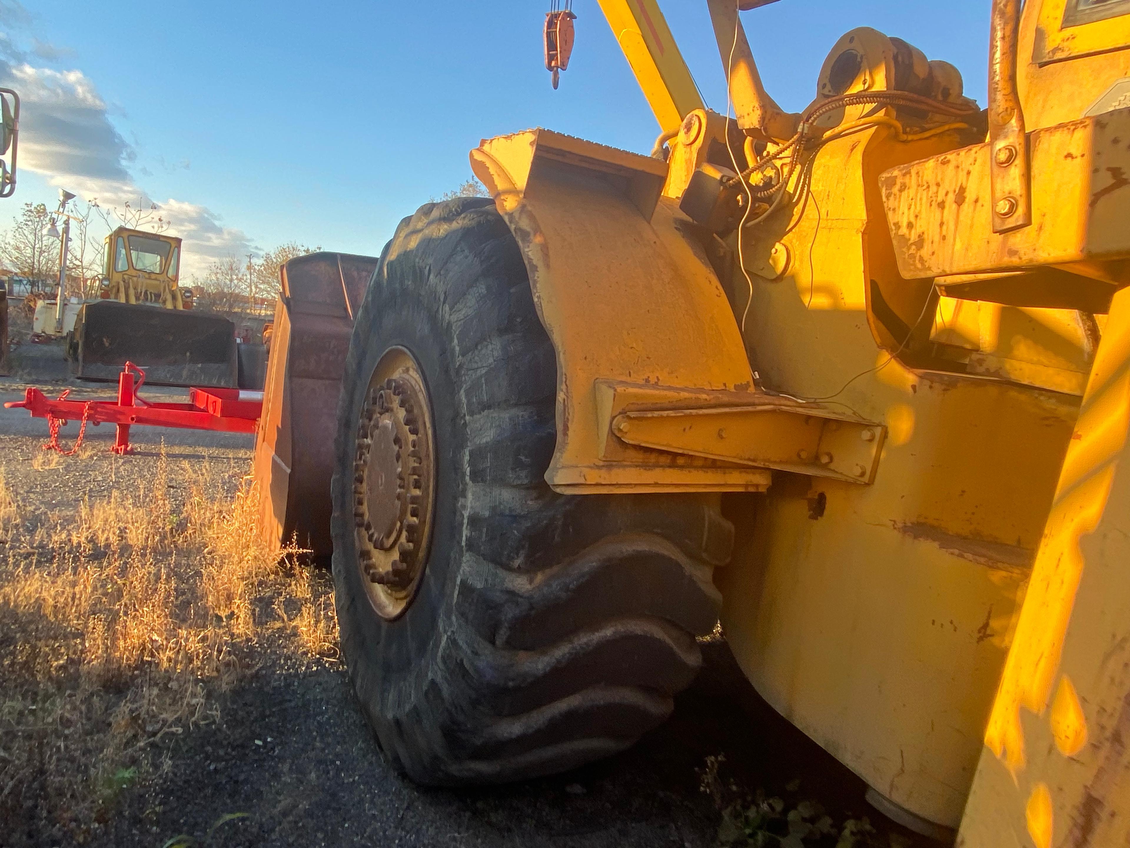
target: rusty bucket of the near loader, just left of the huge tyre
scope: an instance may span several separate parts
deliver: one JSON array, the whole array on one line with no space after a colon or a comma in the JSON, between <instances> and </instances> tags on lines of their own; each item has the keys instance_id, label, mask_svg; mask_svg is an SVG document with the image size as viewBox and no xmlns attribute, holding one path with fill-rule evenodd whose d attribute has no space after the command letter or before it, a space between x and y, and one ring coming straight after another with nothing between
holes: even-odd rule
<instances>
[{"instance_id":1,"label":"rusty bucket of the near loader, just left of the huge tyre","mask_svg":"<svg viewBox=\"0 0 1130 848\"><path fill-rule=\"evenodd\" d=\"M354 315L376 265L375 257L311 253L282 266L254 458L269 545L294 540L315 559L332 553L338 395Z\"/></svg>"}]
</instances>

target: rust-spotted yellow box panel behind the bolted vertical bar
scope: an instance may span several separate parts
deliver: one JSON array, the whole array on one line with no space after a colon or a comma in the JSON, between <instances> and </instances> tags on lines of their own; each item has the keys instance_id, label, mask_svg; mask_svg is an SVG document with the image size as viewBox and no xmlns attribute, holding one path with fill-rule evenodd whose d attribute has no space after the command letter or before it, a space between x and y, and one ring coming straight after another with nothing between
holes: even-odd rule
<instances>
[{"instance_id":1,"label":"rust-spotted yellow box panel behind the bolted vertical bar","mask_svg":"<svg viewBox=\"0 0 1130 848\"><path fill-rule=\"evenodd\" d=\"M990 145L883 173L898 271L910 279L1057 265L1124 282L1130 257L1130 110L1035 130L1032 225L994 233Z\"/></svg>"}]
</instances>

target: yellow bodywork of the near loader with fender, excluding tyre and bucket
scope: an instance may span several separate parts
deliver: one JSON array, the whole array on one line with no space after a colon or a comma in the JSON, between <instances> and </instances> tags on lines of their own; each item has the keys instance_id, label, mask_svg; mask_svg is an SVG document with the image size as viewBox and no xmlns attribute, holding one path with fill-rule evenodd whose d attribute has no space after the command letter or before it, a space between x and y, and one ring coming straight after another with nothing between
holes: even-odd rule
<instances>
[{"instance_id":1,"label":"yellow bodywork of the near loader with fender, excluding tyre and bucket","mask_svg":"<svg viewBox=\"0 0 1130 848\"><path fill-rule=\"evenodd\" d=\"M601 0L662 130L655 155L546 130L471 153L557 354L549 484L733 493L738 544L716 580L749 680L885 810L960 825L968 845L1027 845L1024 805L1043 803L1028 782L1062 816L1107 768L1094 763L1127 762L1113 713L1089 737L1105 739L1089 771L1070 759L1078 729L1074 753L1046 753L1090 692L1125 715L1112 700L1124 675L1094 651L1123 657L1130 641L1119 600L1123 623L1079 625L1064 654L1078 676L1057 683L1044 651L1076 632L1060 535L1105 531L1094 550L1106 564L1083 586L1111 611L1101 587L1124 557L1128 516L1103 504L1125 488L1130 112L1112 110L1130 105L1130 5L1096 19L1096 5L1069 2L1031 0L1019 47L1019 5L993 3L986 141L956 69L868 28L833 45L812 104L785 114L732 8L712 1L723 68L731 53L744 66L727 120L687 87L654 2ZM729 168L720 184L732 187L770 154L777 188L744 189L745 223L712 232L684 211L702 175ZM1076 512L1057 519L1064 510ZM1125 576L1111 581L1124 598ZM1053 694L1067 706L1050 707ZM1022 758L1038 762L1031 781L1015 751L1035 719L1017 710L1042 722ZM1119 775L1104 778L1107 803ZM1009 842L1002 827L1022 836Z\"/></svg>"}]
</instances>

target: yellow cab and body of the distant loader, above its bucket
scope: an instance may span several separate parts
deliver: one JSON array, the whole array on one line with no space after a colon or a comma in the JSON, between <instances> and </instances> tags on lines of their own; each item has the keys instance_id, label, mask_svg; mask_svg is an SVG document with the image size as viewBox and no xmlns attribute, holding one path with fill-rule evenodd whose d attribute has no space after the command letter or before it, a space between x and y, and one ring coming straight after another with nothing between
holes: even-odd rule
<instances>
[{"instance_id":1,"label":"yellow cab and body of the distant loader, above its bucket","mask_svg":"<svg viewBox=\"0 0 1130 848\"><path fill-rule=\"evenodd\" d=\"M180 239L130 227L118 227L106 236L102 282L106 300L190 308L191 300L180 287Z\"/></svg>"}]
</instances>

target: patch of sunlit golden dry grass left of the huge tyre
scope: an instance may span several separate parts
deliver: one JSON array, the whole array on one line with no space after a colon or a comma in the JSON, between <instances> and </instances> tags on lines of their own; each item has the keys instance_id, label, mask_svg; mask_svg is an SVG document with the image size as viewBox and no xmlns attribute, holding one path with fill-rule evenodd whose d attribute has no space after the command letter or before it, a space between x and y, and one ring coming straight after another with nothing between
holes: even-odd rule
<instances>
[{"instance_id":1,"label":"patch of sunlit golden dry grass left of the huge tyre","mask_svg":"<svg viewBox=\"0 0 1130 848\"><path fill-rule=\"evenodd\" d=\"M254 487L185 467L174 502L164 455L153 470L142 491L28 518L0 469L0 820L31 804L81 838L122 786L169 768L155 743L219 719L266 642L336 651L324 580L259 540Z\"/></svg>"}]
</instances>

